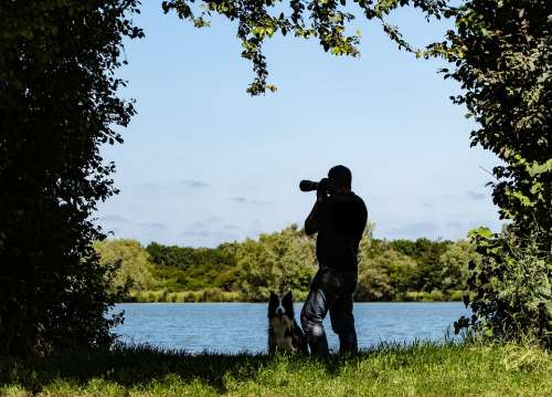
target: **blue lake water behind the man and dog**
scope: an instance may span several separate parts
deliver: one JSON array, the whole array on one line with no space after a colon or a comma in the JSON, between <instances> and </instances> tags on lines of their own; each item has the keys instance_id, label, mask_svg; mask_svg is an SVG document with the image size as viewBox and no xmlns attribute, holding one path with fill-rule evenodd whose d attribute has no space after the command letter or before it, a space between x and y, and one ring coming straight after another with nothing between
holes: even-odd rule
<instances>
[{"instance_id":1,"label":"blue lake water behind the man and dog","mask_svg":"<svg viewBox=\"0 0 552 397\"><path fill-rule=\"evenodd\" d=\"M300 309L301 304L295 305L297 318ZM263 303L125 303L115 310L125 311L125 323L115 330L123 342L190 353L266 352L268 321ZM359 347L380 342L444 341L453 322L467 314L459 302L355 303ZM337 349L329 316L325 327L330 348Z\"/></svg>"}]
</instances>

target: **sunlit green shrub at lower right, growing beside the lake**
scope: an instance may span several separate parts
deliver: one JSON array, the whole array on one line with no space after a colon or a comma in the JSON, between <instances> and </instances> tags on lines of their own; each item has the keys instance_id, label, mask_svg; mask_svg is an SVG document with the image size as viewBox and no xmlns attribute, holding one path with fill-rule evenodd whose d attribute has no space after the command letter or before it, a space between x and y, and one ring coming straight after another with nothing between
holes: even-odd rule
<instances>
[{"instance_id":1,"label":"sunlit green shrub at lower right, growing beside the lake","mask_svg":"<svg viewBox=\"0 0 552 397\"><path fill-rule=\"evenodd\" d=\"M543 251L539 238L520 240L508 229L478 229L471 237L482 260L470 262L464 301L475 314L456 322L456 332L471 326L488 337L534 337L552 346L551 248Z\"/></svg>"}]
</instances>

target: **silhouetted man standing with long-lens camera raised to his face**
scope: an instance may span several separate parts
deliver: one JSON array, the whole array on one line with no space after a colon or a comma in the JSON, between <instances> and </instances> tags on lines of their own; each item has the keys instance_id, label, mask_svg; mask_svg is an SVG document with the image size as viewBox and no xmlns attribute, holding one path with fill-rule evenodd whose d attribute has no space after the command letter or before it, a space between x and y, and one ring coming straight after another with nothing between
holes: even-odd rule
<instances>
[{"instance_id":1,"label":"silhouetted man standing with long-lens camera raised to his face","mask_svg":"<svg viewBox=\"0 0 552 397\"><path fill-rule=\"evenodd\" d=\"M340 353L357 353L352 294L357 288L358 250L367 223L364 201L351 191L351 171L336 166L320 182L302 181L301 190L317 189L317 201L305 221L308 236L318 232L319 270L301 310L301 325L312 355L329 358L322 320L330 312Z\"/></svg>"}]
</instances>

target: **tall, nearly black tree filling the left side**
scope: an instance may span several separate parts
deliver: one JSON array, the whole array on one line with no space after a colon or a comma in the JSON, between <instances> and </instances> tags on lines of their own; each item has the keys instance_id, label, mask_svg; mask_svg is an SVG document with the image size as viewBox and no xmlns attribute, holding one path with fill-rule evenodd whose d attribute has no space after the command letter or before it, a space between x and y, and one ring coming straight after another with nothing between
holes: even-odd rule
<instances>
[{"instance_id":1,"label":"tall, nearly black tree filling the left side","mask_svg":"<svg viewBox=\"0 0 552 397\"><path fill-rule=\"evenodd\" d=\"M99 146L135 113L117 96L137 0L0 3L0 354L105 346L118 317L91 216L116 192Z\"/></svg>"}]
</instances>

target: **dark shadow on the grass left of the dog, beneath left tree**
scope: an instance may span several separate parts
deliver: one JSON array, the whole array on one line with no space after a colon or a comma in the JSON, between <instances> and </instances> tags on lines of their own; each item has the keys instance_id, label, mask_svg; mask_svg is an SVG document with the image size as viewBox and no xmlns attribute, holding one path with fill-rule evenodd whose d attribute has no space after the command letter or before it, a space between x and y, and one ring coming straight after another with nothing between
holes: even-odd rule
<instances>
[{"instance_id":1,"label":"dark shadow on the grass left of the dog, beneath left tree","mask_svg":"<svg viewBox=\"0 0 552 397\"><path fill-rule=\"evenodd\" d=\"M192 355L182 351L163 351L147 345L116 346L112 351L77 352L43 358L1 361L0 379L19 384L39 393L57 380L85 386L94 378L117 383L125 387L162 383L174 374L184 382L201 379L224 393L224 376L232 373L253 376L272 357L266 355L223 355L204 353ZM11 367L11 368L10 368Z\"/></svg>"}]
</instances>

